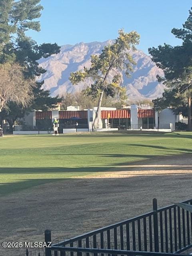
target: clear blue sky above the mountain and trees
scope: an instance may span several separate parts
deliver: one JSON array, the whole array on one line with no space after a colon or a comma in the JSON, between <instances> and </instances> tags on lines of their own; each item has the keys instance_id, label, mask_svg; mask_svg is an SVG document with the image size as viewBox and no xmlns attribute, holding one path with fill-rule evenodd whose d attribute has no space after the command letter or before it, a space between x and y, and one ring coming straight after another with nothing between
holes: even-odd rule
<instances>
[{"instance_id":1,"label":"clear blue sky above the mountain and trees","mask_svg":"<svg viewBox=\"0 0 192 256\"><path fill-rule=\"evenodd\" d=\"M191 0L42 0L41 32L28 32L38 44L59 45L115 39L118 30L136 30L138 48L164 42L180 44L171 34L181 28L192 7Z\"/></svg>"}]
</instances>

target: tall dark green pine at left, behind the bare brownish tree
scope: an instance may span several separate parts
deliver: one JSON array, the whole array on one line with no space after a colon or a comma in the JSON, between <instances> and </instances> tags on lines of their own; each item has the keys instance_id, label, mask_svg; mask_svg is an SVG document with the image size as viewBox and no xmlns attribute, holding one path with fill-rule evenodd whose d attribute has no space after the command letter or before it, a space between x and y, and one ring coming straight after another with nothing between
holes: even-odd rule
<instances>
[{"instance_id":1,"label":"tall dark green pine at left, behind the bare brownish tree","mask_svg":"<svg viewBox=\"0 0 192 256\"><path fill-rule=\"evenodd\" d=\"M38 18L42 10L40 0L0 0L0 63L16 63L22 66L26 81L35 81L37 76L46 72L38 63L40 58L48 58L60 52L60 46L56 43L38 45L26 36L28 30L40 31ZM50 92L42 89L43 83L44 81L37 82L36 86L31 88L33 100L30 101L30 106L27 106L28 110L47 110L52 104L61 101L58 97L50 97ZM12 102L7 101L7 107L9 111L4 111L7 119L11 115L16 116L12 111L17 112L18 116L25 113L24 107L14 99Z\"/></svg>"}]
</instances>

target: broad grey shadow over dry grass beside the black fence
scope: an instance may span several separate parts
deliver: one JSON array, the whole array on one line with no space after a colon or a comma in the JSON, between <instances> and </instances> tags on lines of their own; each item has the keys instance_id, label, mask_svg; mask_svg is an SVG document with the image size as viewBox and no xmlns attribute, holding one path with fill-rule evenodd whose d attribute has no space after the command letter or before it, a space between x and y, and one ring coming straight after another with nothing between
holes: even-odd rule
<instances>
[{"instance_id":1,"label":"broad grey shadow over dry grass beside the black fence","mask_svg":"<svg viewBox=\"0 0 192 256\"><path fill-rule=\"evenodd\" d=\"M184 182L180 184L182 178ZM35 182L38 184L38 179ZM19 236L17 230L22 227L35 228L35 233L22 234L26 238L50 228L65 235L71 231L69 237L77 236L77 230L79 234L91 231L91 224L100 223L95 229L142 214L148 206L151 210L152 198L159 199L159 206L189 199L190 182L191 177L182 172L165 177L63 179L52 186L4 198L0 208L1 231L4 237L10 237Z\"/></svg>"}]
</instances>

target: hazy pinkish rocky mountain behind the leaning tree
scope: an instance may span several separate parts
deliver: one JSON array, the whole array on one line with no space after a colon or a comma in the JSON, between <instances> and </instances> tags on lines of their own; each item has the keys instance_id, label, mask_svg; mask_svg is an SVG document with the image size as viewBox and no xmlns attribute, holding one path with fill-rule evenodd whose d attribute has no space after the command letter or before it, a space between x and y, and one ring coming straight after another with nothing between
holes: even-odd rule
<instances>
[{"instance_id":1,"label":"hazy pinkish rocky mountain behind the leaning tree","mask_svg":"<svg viewBox=\"0 0 192 256\"><path fill-rule=\"evenodd\" d=\"M80 91L91 84L91 80L81 82L73 86L69 81L71 72L82 70L90 66L90 56L100 54L104 46L112 44L113 40L106 42L79 43L75 45L64 45L57 55L49 58L42 58L39 63L47 70L40 77L44 80L44 89L50 90L52 96L62 95L66 92L74 93ZM150 56L141 50L132 52L133 59L136 61L131 78L127 78L122 72L122 86L126 87L128 98L141 100L148 98L155 99L162 95L164 85L158 83L157 74L163 75Z\"/></svg>"}]
</instances>

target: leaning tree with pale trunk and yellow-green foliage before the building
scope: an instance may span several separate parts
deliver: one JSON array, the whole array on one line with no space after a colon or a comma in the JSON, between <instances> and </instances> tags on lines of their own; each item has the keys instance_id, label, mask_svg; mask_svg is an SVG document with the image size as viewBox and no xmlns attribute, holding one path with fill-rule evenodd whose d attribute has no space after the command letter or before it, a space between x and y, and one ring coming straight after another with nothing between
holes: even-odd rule
<instances>
[{"instance_id":1,"label":"leaning tree with pale trunk and yellow-green foliage before the building","mask_svg":"<svg viewBox=\"0 0 192 256\"><path fill-rule=\"evenodd\" d=\"M135 64L130 50L136 49L135 46L139 43L139 39L140 36L135 31L125 33L124 30L119 30L119 36L114 44L105 46L99 56L91 56L90 68L84 67L83 71L70 74L69 79L72 84L91 78L93 83L90 88L87 88L87 94L93 97L99 95L93 129L100 127L101 124L100 107L104 94L111 97L116 94L125 94L125 88L121 86L120 71L124 69L126 76L130 76L132 65Z\"/></svg>"}]
</instances>

